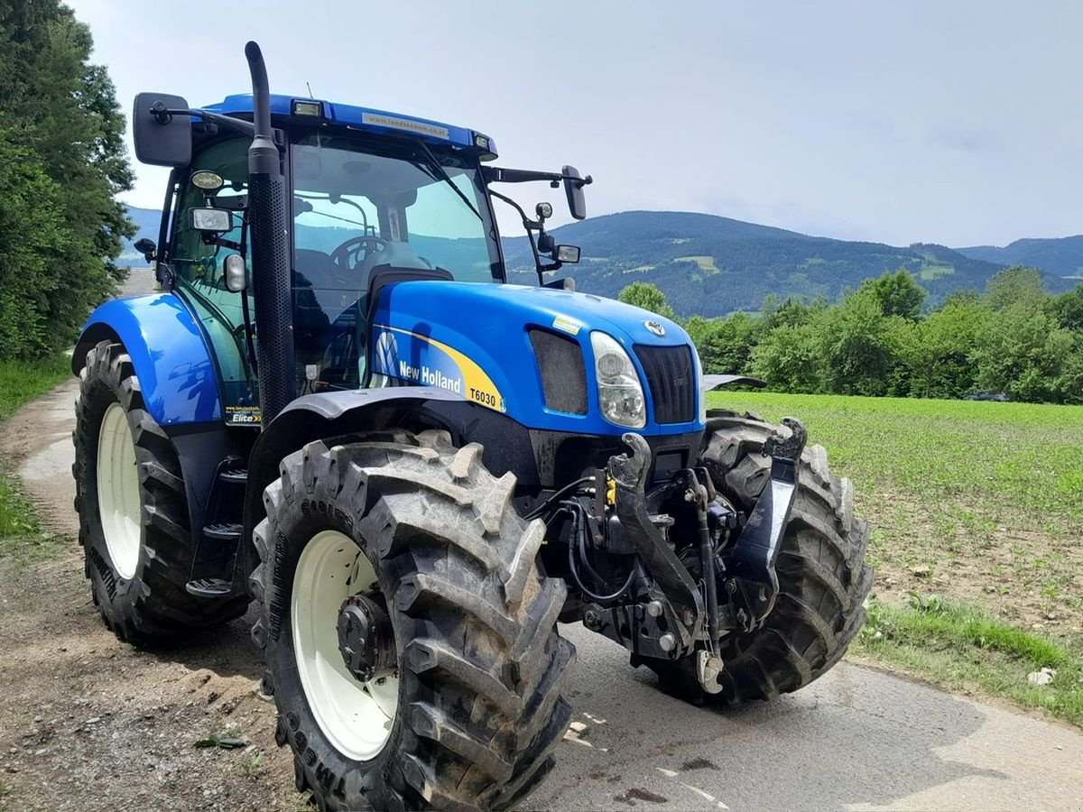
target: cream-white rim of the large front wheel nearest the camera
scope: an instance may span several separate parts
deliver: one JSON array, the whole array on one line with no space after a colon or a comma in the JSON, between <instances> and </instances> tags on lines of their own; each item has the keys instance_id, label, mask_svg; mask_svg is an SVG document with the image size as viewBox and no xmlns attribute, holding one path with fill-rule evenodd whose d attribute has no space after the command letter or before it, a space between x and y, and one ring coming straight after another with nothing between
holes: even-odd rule
<instances>
[{"instance_id":1,"label":"cream-white rim of the large front wheel nearest the camera","mask_svg":"<svg viewBox=\"0 0 1083 812\"><path fill-rule=\"evenodd\" d=\"M290 600L293 652L309 707L335 748L355 761L383 749L399 708L397 677L362 683L339 652L342 602L375 581L373 565L353 539L324 531L301 551Z\"/></svg>"}]
</instances>

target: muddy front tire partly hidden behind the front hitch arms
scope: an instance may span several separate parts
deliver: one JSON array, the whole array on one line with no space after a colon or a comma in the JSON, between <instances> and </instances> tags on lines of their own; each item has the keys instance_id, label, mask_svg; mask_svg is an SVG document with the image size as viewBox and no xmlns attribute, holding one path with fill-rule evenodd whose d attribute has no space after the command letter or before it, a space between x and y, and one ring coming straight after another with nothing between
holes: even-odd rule
<instances>
[{"instance_id":1,"label":"muddy front tire partly hidden behind the front hitch arms","mask_svg":"<svg viewBox=\"0 0 1083 812\"><path fill-rule=\"evenodd\" d=\"M699 464L746 514L770 479L760 449L774 427L748 415L713 411ZM665 690L696 704L773 699L827 671L864 623L873 582L865 563L869 526L853 516L853 487L833 476L823 446L806 447L798 490L775 564L780 593L765 625L722 639L720 694L703 691L691 657L656 668Z\"/></svg>"}]
</instances>

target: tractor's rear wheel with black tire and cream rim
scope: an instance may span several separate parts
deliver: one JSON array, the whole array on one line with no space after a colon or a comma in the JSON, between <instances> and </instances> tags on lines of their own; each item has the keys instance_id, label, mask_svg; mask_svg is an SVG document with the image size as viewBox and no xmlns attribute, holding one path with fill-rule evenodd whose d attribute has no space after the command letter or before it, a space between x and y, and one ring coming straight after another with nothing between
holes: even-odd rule
<instances>
[{"instance_id":1,"label":"tractor's rear wheel with black tire and cream rim","mask_svg":"<svg viewBox=\"0 0 1083 812\"><path fill-rule=\"evenodd\" d=\"M184 589L194 548L180 463L120 344L87 353L75 415L79 543L105 625L147 643L245 614L246 598L203 600Z\"/></svg>"}]
</instances>

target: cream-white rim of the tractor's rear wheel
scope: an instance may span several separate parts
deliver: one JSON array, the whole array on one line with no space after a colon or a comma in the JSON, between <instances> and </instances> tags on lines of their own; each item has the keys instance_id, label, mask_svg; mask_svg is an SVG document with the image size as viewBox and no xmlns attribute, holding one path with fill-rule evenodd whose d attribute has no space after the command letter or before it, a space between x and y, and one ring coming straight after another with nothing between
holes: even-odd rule
<instances>
[{"instance_id":1,"label":"cream-white rim of the tractor's rear wheel","mask_svg":"<svg viewBox=\"0 0 1083 812\"><path fill-rule=\"evenodd\" d=\"M97 508L105 547L121 578L135 576L143 540L135 443L128 415L110 403L97 433Z\"/></svg>"}]
</instances>

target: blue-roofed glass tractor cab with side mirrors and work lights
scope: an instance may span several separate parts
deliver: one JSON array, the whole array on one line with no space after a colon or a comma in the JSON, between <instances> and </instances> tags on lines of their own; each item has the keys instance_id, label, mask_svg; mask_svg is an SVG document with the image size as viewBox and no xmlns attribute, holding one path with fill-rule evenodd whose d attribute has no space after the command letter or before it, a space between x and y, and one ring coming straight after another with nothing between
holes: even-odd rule
<instances>
[{"instance_id":1,"label":"blue-roofed glass tractor cab with side mirrors and work lights","mask_svg":"<svg viewBox=\"0 0 1083 812\"><path fill-rule=\"evenodd\" d=\"M152 115L155 103L174 112ZM148 257L161 287L198 315L231 425L261 417L253 319L259 283L253 286L250 274L252 109L251 95L233 95L182 115L183 100L144 93L134 113L141 159L173 167L160 245L148 247ZM508 170L485 171L482 161L497 157L495 146L473 130L289 96L270 96L270 110L289 189L292 392L393 384L399 376L373 375L375 292L410 279L506 281L486 183L509 180L501 178ZM191 132L187 143L182 129ZM580 189L589 179L574 168L519 175L510 180L556 184L560 178L573 214L585 214ZM540 230L538 241L551 254L543 265L535 251L539 278L540 270L577 260L577 249L551 245L544 217L523 219L527 228ZM532 238L532 245L538 243Z\"/></svg>"}]
</instances>

